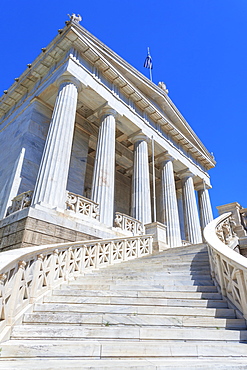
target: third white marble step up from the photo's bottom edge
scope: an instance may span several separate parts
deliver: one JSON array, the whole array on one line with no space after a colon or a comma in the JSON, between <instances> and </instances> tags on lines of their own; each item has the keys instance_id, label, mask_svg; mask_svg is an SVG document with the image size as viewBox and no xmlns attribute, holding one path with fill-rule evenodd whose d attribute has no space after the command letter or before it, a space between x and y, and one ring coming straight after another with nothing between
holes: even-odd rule
<instances>
[{"instance_id":1,"label":"third white marble step up from the photo's bottom edge","mask_svg":"<svg viewBox=\"0 0 247 370\"><path fill-rule=\"evenodd\" d=\"M13 339L131 339L131 340L175 340L175 341L247 341L246 330L218 330L202 328L162 328L126 326L83 326L73 325L17 325L12 329Z\"/></svg>"}]
</instances>

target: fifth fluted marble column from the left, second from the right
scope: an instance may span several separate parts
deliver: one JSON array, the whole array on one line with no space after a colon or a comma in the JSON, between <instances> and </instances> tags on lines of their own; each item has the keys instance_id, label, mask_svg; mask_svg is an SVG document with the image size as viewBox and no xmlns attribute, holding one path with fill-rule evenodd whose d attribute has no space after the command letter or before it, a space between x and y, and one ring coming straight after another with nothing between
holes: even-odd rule
<instances>
[{"instance_id":1,"label":"fifth fluted marble column from the left, second from the right","mask_svg":"<svg viewBox=\"0 0 247 370\"><path fill-rule=\"evenodd\" d=\"M180 173L180 178L182 179L186 239L192 244L202 243L193 174L184 171Z\"/></svg>"}]
</instances>

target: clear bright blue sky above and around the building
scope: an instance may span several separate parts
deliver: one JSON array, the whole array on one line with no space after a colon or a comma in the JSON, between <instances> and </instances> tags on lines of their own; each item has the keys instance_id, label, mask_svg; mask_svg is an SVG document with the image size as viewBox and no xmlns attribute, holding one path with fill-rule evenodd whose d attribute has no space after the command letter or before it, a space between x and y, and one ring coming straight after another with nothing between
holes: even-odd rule
<instances>
[{"instance_id":1,"label":"clear bright blue sky above and around the building","mask_svg":"<svg viewBox=\"0 0 247 370\"><path fill-rule=\"evenodd\" d=\"M217 161L210 171L214 208L247 207L247 1L4 1L0 94L63 28L67 13L135 68L146 48L154 82L169 96Z\"/></svg>"}]
</instances>

